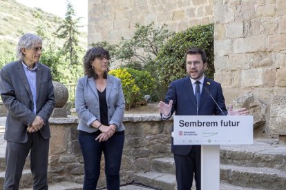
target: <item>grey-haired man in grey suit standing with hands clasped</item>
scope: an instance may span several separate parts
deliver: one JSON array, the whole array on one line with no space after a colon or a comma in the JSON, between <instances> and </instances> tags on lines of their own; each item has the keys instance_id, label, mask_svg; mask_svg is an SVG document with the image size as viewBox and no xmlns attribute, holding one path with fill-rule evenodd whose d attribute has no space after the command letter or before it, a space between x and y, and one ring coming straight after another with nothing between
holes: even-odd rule
<instances>
[{"instance_id":1,"label":"grey-haired man in grey suit standing with hands clasped","mask_svg":"<svg viewBox=\"0 0 286 190\"><path fill-rule=\"evenodd\" d=\"M48 189L48 118L55 107L50 68L39 63L42 40L35 34L19 39L17 56L0 72L0 94L8 109L6 120L6 173L4 189L19 189L30 152L34 189Z\"/></svg>"}]
</instances>

